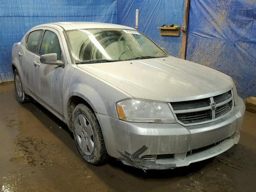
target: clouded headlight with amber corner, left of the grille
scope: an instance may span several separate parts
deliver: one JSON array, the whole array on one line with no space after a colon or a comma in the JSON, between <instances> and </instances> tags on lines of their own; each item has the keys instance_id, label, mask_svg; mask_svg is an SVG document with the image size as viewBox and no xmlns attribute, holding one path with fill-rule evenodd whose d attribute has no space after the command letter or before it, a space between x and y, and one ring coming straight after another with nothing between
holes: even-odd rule
<instances>
[{"instance_id":1,"label":"clouded headlight with amber corner, left of the grille","mask_svg":"<svg viewBox=\"0 0 256 192\"><path fill-rule=\"evenodd\" d=\"M175 123L172 111L165 102L126 99L116 104L118 117L128 122Z\"/></svg>"}]
</instances>

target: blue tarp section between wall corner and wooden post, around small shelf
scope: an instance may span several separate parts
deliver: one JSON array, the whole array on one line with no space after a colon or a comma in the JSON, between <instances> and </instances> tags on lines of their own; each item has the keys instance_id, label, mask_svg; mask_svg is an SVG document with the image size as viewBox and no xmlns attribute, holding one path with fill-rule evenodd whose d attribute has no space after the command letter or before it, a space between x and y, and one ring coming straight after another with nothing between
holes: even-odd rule
<instances>
[{"instance_id":1,"label":"blue tarp section between wall corner and wooden post, around small shelf","mask_svg":"<svg viewBox=\"0 0 256 192\"><path fill-rule=\"evenodd\" d=\"M117 22L135 27L135 10L139 10L138 30L146 34L168 54L180 57L182 36L161 36L163 24L183 25L185 0L118 0Z\"/></svg>"}]
</instances>

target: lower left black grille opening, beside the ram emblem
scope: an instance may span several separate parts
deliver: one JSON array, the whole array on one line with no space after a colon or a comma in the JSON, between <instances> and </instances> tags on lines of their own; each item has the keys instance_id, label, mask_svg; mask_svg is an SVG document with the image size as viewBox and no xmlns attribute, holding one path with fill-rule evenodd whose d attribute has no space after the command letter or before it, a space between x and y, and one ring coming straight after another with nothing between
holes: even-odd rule
<instances>
[{"instance_id":1,"label":"lower left black grille opening, beside the ram emblem","mask_svg":"<svg viewBox=\"0 0 256 192\"><path fill-rule=\"evenodd\" d=\"M197 123L210 120L209 110L176 114L179 121L183 123Z\"/></svg>"}]
</instances>

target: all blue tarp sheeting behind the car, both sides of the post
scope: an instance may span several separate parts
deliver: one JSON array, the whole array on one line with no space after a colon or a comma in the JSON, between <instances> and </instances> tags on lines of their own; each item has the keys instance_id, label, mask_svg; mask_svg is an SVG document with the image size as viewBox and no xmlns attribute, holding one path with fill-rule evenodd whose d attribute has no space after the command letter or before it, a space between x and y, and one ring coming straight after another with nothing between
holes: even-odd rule
<instances>
[{"instance_id":1,"label":"all blue tarp sheeting behind the car, both sides of the post","mask_svg":"<svg viewBox=\"0 0 256 192\"><path fill-rule=\"evenodd\" d=\"M12 80L11 50L33 26L59 21L95 21L135 27L172 56L181 56L180 36L160 36L158 26L184 20L185 0L2 0L0 82ZM256 96L256 1L191 0L186 59L231 76L242 96Z\"/></svg>"}]
</instances>

